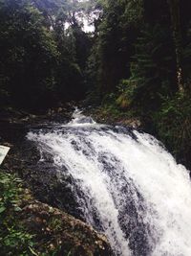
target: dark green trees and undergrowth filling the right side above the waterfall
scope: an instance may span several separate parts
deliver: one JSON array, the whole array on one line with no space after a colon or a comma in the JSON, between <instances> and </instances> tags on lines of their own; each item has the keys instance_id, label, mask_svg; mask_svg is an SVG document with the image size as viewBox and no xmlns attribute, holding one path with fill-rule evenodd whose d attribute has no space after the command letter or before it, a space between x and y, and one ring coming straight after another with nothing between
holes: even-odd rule
<instances>
[{"instance_id":1,"label":"dark green trees and undergrowth filling the right side above the waterfall","mask_svg":"<svg viewBox=\"0 0 191 256\"><path fill-rule=\"evenodd\" d=\"M99 105L101 119L138 119L191 168L189 1L99 3L90 104Z\"/></svg>"}]
</instances>

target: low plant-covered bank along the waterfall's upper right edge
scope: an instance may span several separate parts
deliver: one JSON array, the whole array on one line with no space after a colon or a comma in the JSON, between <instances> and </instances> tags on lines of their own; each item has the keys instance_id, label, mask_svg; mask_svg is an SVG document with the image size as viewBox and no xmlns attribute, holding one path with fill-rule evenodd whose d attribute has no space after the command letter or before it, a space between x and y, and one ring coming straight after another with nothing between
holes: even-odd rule
<instances>
[{"instance_id":1,"label":"low plant-covered bank along the waterfall's upper right edge","mask_svg":"<svg viewBox=\"0 0 191 256\"><path fill-rule=\"evenodd\" d=\"M96 122L137 128L155 136L178 163L191 170L190 99L179 97L162 105L158 111L141 113L133 107L121 108L116 103L85 109Z\"/></svg>"}]
</instances>

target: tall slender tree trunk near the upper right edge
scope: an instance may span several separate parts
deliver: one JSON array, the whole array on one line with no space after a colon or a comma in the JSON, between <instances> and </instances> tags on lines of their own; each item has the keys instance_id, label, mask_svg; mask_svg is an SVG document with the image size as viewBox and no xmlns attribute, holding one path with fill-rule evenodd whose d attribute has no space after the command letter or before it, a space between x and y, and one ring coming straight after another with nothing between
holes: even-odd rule
<instances>
[{"instance_id":1,"label":"tall slender tree trunk near the upper right edge","mask_svg":"<svg viewBox=\"0 0 191 256\"><path fill-rule=\"evenodd\" d=\"M184 91L183 84L183 68L182 68L182 44L181 44L181 28L180 28L180 0L167 0L169 4L172 30L173 30L173 40L176 52L177 61L177 82L179 91Z\"/></svg>"}]
</instances>

